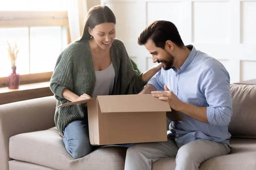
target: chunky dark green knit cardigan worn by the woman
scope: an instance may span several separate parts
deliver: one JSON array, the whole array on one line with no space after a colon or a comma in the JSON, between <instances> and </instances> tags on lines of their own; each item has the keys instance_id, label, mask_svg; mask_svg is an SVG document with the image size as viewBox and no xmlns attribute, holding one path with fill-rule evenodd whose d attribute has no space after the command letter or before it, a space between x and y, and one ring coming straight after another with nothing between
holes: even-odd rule
<instances>
[{"instance_id":1,"label":"chunky dark green knit cardigan worn by the woman","mask_svg":"<svg viewBox=\"0 0 256 170\"><path fill-rule=\"evenodd\" d=\"M110 48L115 82L112 95L138 94L146 82L134 71L131 60L122 41L115 39ZM95 85L95 72L88 40L74 42L58 57L50 81L50 89L57 99L57 106L69 102L62 96L64 89L81 96L92 95ZM58 131L63 134L65 127L76 119L87 116L85 105L70 105L55 110L54 121Z\"/></svg>"}]
</instances>

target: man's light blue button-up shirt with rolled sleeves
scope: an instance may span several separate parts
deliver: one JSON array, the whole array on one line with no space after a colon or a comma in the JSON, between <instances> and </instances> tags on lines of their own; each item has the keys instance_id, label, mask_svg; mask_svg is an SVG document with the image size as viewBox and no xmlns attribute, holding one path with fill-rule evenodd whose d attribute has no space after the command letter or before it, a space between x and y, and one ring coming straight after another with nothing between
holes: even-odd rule
<instances>
[{"instance_id":1,"label":"man's light blue button-up shirt with rolled sleeves","mask_svg":"<svg viewBox=\"0 0 256 170\"><path fill-rule=\"evenodd\" d=\"M230 76L218 60L197 51L192 45L186 47L191 53L180 69L165 71L162 68L148 84L154 85L157 91L163 91L167 85L182 102L207 107L209 123L180 112L185 121L171 122L170 136L175 137L179 144L195 139L229 144L228 125L232 116Z\"/></svg>"}]
</instances>

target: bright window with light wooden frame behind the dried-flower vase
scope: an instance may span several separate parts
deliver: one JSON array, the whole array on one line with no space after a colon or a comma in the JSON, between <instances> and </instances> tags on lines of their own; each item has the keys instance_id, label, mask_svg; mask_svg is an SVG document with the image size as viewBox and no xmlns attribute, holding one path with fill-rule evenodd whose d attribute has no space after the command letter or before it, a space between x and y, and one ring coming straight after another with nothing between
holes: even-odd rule
<instances>
[{"instance_id":1,"label":"bright window with light wooden frame behind the dried-flower vase","mask_svg":"<svg viewBox=\"0 0 256 170\"><path fill-rule=\"evenodd\" d=\"M0 0L0 87L11 72L6 41L20 48L20 84L49 80L70 42L67 0Z\"/></svg>"}]
</instances>

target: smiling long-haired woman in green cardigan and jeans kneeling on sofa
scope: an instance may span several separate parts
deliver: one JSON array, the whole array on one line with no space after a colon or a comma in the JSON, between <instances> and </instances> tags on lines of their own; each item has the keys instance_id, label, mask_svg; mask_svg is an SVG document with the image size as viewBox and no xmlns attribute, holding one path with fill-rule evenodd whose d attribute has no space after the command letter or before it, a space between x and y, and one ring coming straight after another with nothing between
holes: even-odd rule
<instances>
[{"instance_id":1,"label":"smiling long-haired woman in green cardigan and jeans kneeling on sofa","mask_svg":"<svg viewBox=\"0 0 256 170\"><path fill-rule=\"evenodd\" d=\"M107 6L88 11L81 38L58 57L50 89L57 105L89 99L91 96L138 94L161 65L141 75L133 65L122 41L115 39L116 18ZM57 108L55 125L73 158L93 151L88 132L87 108L71 105Z\"/></svg>"}]
</instances>

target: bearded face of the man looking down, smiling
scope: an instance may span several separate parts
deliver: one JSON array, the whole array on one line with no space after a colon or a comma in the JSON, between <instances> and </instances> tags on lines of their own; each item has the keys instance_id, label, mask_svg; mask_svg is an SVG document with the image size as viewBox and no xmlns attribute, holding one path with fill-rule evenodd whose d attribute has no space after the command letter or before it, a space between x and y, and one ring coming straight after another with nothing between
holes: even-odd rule
<instances>
[{"instance_id":1,"label":"bearded face of the man looking down, smiling","mask_svg":"<svg viewBox=\"0 0 256 170\"><path fill-rule=\"evenodd\" d=\"M145 43L145 48L152 55L153 62L161 62L164 70L169 70L173 67L175 57L170 54L166 49L156 47L153 40L149 39Z\"/></svg>"}]
</instances>

